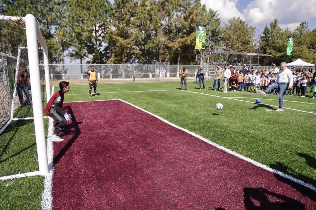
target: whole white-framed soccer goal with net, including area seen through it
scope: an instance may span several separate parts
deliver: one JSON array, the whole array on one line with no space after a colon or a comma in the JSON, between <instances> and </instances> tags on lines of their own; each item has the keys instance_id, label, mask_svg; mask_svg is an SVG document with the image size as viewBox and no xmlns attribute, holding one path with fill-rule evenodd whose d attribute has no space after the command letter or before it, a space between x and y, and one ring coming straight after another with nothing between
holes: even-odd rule
<instances>
[{"instance_id":1,"label":"whole white-framed soccer goal with net, including area seen through it","mask_svg":"<svg viewBox=\"0 0 316 210\"><path fill-rule=\"evenodd\" d=\"M47 47L33 15L0 20L0 180L46 175Z\"/></svg>"}]
</instances>

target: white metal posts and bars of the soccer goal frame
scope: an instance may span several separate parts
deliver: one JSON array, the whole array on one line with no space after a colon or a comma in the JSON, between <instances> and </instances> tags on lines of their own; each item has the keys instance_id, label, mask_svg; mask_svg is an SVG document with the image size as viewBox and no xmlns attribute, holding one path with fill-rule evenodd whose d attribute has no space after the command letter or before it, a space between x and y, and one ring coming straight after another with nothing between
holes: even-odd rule
<instances>
[{"instance_id":1,"label":"white metal posts and bars of the soccer goal frame","mask_svg":"<svg viewBox=\"0 0 316 210\"><path fill-rule=\"evenodd\" d=\"M31 84L31 90L32 90L32 102L33 102L33 110L35 110L33 114L34 114L34 125L35 125L34 127L35 127L35 137L36 137L36 149L37 149L38 163L39 163L39 171L4 176L4 177L0 177L0 180L28 177L28 176L34 176L34 175L47 175L49 173L49 170L48 170L48 160L47 160L47 151L46 151L46 136L45 136L45 127L44 127L44 118L43 118L42 95L41 95L38 42L40 43L44 52L44 70L45 70L47 100L49 100L51 96L50 83L49 83L49 70L48 70L48 49L44 41L43 35L40 32L40 28L37 25L37 20L35 19L33 15L28 14L25 17L0 15L0 20L3 22L10 21L10 22L17 22L17 23L25 23L26 38L27 38L27 54L28 54L30 81L31 81L30 84ZM20 50L21 49L19 48L19 52ZM19 67L19 62L20 62L19 60L20 60L20 57L18 56L16 69L18 69ZM18 71L16 70L16 73L17 72ZM12 122L12 120L21 120L21 119L13 119L13 112L11 110L11 117L10 117L10 120L7 122L6 126L8 126ZM0 134L2 131L0 131Z\"/></svg>"}]
</instances>

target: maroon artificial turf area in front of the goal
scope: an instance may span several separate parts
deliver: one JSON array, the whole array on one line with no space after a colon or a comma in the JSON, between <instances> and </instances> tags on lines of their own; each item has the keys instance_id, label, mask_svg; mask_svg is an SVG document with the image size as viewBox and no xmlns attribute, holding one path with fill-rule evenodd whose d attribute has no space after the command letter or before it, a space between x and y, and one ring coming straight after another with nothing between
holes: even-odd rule
<instances>
[{"instance_id":1,"label":"maroon artificial turf area in front of the goal","mask_svg":"<svg viewBox=\"0 0 316 210\"><path fill-rule=\"evenodd\" d=\"M314 191L119 100L64 109L54 209L316 209Z\"/></svg>"}]
</instances>

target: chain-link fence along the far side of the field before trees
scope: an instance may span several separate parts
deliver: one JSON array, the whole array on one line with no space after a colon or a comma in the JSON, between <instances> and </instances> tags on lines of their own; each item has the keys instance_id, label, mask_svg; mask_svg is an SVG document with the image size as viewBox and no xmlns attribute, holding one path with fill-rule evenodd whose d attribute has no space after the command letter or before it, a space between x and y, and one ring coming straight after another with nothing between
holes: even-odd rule
<instances>
[{"instance_id":1,"label":"chain-link fence along the far side of the field before trees","mask_svg":"<svg viewBox=\"0 0 316 210\"><path fill-rule=\"evenodd\" d=\"M139 65L139 64L50 64L50 80L67 80L67 79L86 79L90 67L94 66L98 79L115 80L115 79L133 79L133 71L136 72L138 79L157 79L156 70L159 70L160 79L179 78L179 69L186 67L188 77L194 79L197 73L198 65ZM216 65L203 65L207 79L214 79ZM223 68L223 66L221 66ZM242 66L235 66L241 68ZM270 69L270 66L262 66ZM261 69L260 67L252 67ZM165 72L165 73L163 73ZM164 74L164 75L163 75ZM41 78L44 79L44 67L41 67Z\"/></svg>"}]
</instances>

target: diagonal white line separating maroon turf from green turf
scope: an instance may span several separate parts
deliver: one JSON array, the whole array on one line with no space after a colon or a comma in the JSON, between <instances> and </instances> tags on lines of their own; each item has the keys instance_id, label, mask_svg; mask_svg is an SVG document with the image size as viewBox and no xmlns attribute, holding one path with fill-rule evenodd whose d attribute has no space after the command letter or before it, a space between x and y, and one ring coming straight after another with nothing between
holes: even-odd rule
<instances>
[{"instance_id":1,"label":"diagonal white line separating maroon turf from green turf","mask_svg":"<svg viewBox=\"0 0 316 210\"><path fill-rule=\"evenodd\" d=\"M220 97L220 96L219 96L219 97ZM150 113L149 111L146 111L146 110L144 110L144 109L142 109L142 108L140 108L140 107L137 107L137 106L135 106L134 104L131 104L131 103L126 102L126 101L121 100L121 99L118 99L118 100L119 100L119 101L122 101L122 102L124 102L124 103L127 103L127 104L129 104L129 105L131 105L131 106L133 106L133 107L135 107L135 108L137 108L137 109L140 109L140 110L142 110L143 112L146 112L147 114L150 114L150 115L152 115L152 116L158 118L159 120L161 120L161 121L163 121L163 122L165 122L165 123L167 123L167 124L169 124L169 125L171 125L171 126L177 128L177 129L180 129L180 130L182 130L182 131L185 131L186 133L188 133L188 134L190 134L190 135L192 135L192 136L194 136L194 137L197 137L197 138L201 139L202 141L204 141L204 142L206 142L206 143L209 143L209 144L213 145L214 147L216 147L216 148L218 148L218 149L221 149L221 150L223 150L223 151L225 151L225 152L227 152L227 153L229 153L229 154L231 154L231 155L234 155L234 156L236 156L236 157L238 157L238 158L240 158L240 159L242 159L242 160L246 160L247 162L250 162L250 163L252 163L252 164L255 165L255 166L258 166L258 167L263 168L263 169L265 169L265 170L267 170L267 171L270 171L270 172L273 172L273 173L275 173L275 174L278 174L278 175L280 175L281 177L288 178L288 179L290 179L291 181L293 181L293 182L295 182L295 183L301 184L301 185L303 185L303 186L305 186L305 187L307 187L307 188L309 188L309 189L311 189L311 190L313 190L313 191L316 191L316 187L314 187L312 184L308 184L308 183L306 183L306 182L304 182L304 181L301 181L300 179L294 178L294 177L292 177L292 176L290 176L290 175L288 175L288 174L286 174L286 173L283 173L283 172L280 172L280 171L278 171L278 170L276 170L276 169L273 169L273 168L270 168L270 167L268 167L268 166L265 166L265 165L263 165L262 163L259 163L259 162L255 161L255 160L252 160L252 159L250 159L250 158L248 158L248 157L246 157L246 156L244 156L244 155L240 155L239 153L236 153L236 152L234 152L234 151L232 151L232 150L230 150L230 149L227 149L227 148L225 148L225 147L223 147L223 146L221 146L221 145L219 145L219 144L217 144L217 143L214 143L214 142L212 142L212 141L210 141L210 140L208 140L208 139L206 139L206 138L204 138L204 137L201 137L201 136L197 135L196 133L193 133L193 132L191 132L191 131L186 130L185 128L182 128L182 127L180 127L180 126L178 126L178 125L175 125L175 124L173 124L173 123L171 123L171 122L169 122L169 121L167 121L167 120L165 120L165 119L159 117L158 115L152 114L152 113Z\"/></svg>"}]
</instances>

